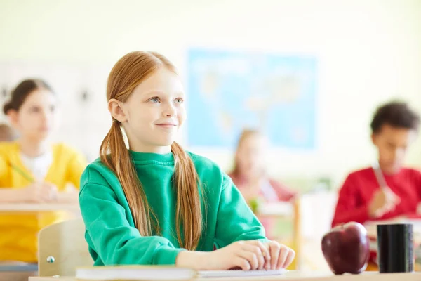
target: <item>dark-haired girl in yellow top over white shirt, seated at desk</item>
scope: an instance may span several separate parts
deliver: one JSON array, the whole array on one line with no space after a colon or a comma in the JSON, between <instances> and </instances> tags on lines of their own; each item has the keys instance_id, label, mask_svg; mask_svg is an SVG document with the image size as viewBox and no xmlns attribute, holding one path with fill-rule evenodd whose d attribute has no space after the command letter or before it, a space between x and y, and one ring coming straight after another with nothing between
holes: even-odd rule
<instances>
[{"instance_id":1,"label":"dark-haired girl in yellow top over white shirt, seated at desk","mask_svg":"<svg viewBox=\"0 0 421 281\"><path fill-rule=\"evenodd\" d=\"M86 161L48 138L55 125L56 97L39 79L22 81L4 105L4 114L19 133L17 141L0 143L1 202L77 202ZM37 234L62 220L60 212L0 214L0 261L37 261Z\"/></svg>"}]
</instances>

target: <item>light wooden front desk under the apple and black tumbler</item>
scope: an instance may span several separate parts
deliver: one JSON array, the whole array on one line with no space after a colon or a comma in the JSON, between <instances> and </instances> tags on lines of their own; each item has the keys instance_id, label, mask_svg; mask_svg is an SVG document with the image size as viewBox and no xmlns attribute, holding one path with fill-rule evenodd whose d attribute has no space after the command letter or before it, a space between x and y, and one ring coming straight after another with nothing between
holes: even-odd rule
<instances>
[{"instance_id":1,"label":"light wooden front desk under the apple and black tumbler","mask_svg":"<svg viewBox=\"0 0 421 281\"><path fill-rule=\"evenodd\" d=\"M333 275L328 272L291 270L282 276L236 277L236 278L203 278L202 281L262 281L262 280L294 280L294 281L420 281L421 273L363 273L360 275ZM29 281L77 281L74 277L29 277Z\"/></svg>"}]
</instances>

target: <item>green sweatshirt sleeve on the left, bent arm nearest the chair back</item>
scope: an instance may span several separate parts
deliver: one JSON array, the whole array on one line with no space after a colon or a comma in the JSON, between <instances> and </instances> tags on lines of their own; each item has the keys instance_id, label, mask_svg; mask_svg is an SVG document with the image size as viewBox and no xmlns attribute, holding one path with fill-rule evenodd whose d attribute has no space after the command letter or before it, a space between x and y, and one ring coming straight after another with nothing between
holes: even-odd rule
<instances>
[{"instance_id":1,"label":"green sweatshirt sleeve on the left, bent arm nearest the chair back","mask_svg":"<svg viewBox=\"0 0 421 281\"><path fill-rule=\"evenodd\" d=\"M87 183L79 193L86 240L105 264L173 265L180 251L163 237L142 237L109 186Z\"/></svg>"}]
</instances>

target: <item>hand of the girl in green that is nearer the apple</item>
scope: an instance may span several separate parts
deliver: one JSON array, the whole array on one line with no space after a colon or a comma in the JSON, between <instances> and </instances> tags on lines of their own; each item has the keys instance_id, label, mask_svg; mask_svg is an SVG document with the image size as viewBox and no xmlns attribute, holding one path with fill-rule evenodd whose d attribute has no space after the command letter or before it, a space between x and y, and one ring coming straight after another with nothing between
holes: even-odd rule
<instances>
[{"instance_id":1,"label":"hand of the girl in green that is nearer the apple","mask_svg":"<svg viewBox=\"0 0 421 281\"><path fill-rule=\"evenodd\" d=\"M279 242L267 242L265 246L269 248L270 252L270 261L267 261L267 264L265 264L265 269L287 268L295 258L295 251L283 244L279 244Z\"/></svg>"}]
</instances>

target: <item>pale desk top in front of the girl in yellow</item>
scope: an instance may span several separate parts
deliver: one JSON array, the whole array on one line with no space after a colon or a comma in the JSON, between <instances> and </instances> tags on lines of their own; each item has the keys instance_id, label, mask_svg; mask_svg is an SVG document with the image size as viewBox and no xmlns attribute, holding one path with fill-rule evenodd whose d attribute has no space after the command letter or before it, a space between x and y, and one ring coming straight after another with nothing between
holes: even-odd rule
<instances>
[{"instance_id":1,"label":"pale desk top in front of the girl in yellow","mask_svg":"<svg viewBox=\"0 0 421 281\"><path fill-rule=\"evenodd\" d=\"M79 204L0 203L0 212L6 211L79 211Z\"/></svg>"}]
</instances>

